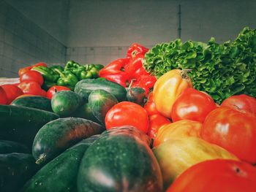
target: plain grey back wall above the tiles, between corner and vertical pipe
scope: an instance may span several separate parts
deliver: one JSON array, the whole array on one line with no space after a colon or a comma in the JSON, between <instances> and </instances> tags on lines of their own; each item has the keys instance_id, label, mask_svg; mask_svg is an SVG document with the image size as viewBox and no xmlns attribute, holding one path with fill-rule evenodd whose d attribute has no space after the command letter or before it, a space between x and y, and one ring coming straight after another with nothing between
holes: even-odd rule
<instances>
[{"instance_id":1,"label":"plain grey back wall above the tiles, between corner and vertical pipe","mask_svg":"<svg viewBox=\"0 0 256 192\"><path fill-rule=\"evenodd\" d=\"M176 1L72 0L67 47L143 45L177 37Z\"/></svg>"}]
</instances>

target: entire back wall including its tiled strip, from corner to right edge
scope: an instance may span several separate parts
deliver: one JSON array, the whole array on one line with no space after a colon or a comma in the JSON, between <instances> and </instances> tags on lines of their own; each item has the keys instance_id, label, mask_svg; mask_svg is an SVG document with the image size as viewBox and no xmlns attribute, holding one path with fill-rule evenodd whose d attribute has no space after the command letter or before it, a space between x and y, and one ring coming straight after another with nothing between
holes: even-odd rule
<instances>
[{"instance_id":1,"label":"entire back wall including its tiled strip, from corner to right edge","mask_svg":"<svg viewBox=\"0 0 256 192\"><path fill-rule=\"evenodd\" d=\"M217 42L235 39L244 26L256 28L252 0L72 0L67 60L108 64L138 42L146 47L178 38Z\"/></svg>"}]
</instances>

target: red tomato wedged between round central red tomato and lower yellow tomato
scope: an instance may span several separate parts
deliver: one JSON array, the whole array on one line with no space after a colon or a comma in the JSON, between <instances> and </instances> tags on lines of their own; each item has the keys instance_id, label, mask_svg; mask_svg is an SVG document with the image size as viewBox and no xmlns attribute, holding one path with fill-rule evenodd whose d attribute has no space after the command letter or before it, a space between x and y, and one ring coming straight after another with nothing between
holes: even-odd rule
<instances>
[{"instance_id":1,"label":"red tomato wedged between round central red tomato and lower yellow tomato","mask_svg":"<svg viewBox=\"0 0 256 192\"><path fill-rule=\"evenodd\" d=\"M170 120L168 118L165 118L164 115L161 115L161 114L150 115L149 126L148 126L148 136L151 139L154 139L157 136L158 129L167 123L170 123Z\"/></svg>"}]
</instances>

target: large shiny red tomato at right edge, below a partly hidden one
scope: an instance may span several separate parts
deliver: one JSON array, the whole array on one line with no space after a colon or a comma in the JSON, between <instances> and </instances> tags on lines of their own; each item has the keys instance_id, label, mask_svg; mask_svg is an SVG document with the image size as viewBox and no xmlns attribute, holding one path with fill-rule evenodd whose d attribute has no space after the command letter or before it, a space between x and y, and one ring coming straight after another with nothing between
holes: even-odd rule
<instances>
[{"instance_id":1,"label":"large shiny red tomato at right edge, below a partly hidden one","mask_svg":"<svg viewBox=\"0 0 256 192\"><path fill-rule=\"evenodd\" d=\"M233 107L219 107L208 114L201 136L243 161L256 163L256 115Z\"/></svg>"}]
</instances>

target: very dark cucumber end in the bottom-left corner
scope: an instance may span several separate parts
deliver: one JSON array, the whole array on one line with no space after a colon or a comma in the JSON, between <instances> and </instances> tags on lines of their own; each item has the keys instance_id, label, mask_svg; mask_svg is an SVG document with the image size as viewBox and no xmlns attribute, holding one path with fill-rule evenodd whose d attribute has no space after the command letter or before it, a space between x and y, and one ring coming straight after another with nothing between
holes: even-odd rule
<instances>
[{"instance_id":1,"label":"very dark cucumber end in the bottom-left corner","mask_svg":"<svg viewBox=\"0 0 256 192\"><path fill-rule=\"evenodd\" d=\"M19 191L26 181L37 172L37 169L31 154L0 154L0 191Z\"/></svg>"}]
</instances>

